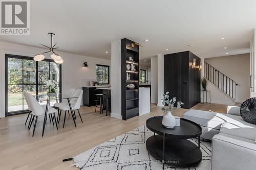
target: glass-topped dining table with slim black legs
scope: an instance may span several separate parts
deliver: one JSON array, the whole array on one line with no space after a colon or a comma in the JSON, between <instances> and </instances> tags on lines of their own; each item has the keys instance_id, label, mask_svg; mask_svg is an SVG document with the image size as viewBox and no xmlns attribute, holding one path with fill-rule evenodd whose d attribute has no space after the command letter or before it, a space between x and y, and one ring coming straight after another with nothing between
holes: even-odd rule
<instances>
[{"instance_id":1,"label":"glass-topped dining table with slim black legs","mask_svg":"<svg viewBox=\"0 0 256 170\"><path fill-rule=\"evenodd\" d=\"M35 98L39 103L46 102L44 124L43 124L43 127L42 127L42 136L44 136L44 133L45 133L45 126L46 126L46 121L47 121L47 112L48 112L48 109L50 107L50 101L56 101L58 103L58 101L61 102L63 100L67 100L69 108L70 108L70 112L71 112L71 115L72 115L72 118L73 118L73 121L74 121L74 124L75 124L75 127L76 127L76 120L75 120L74 112L72 110L71 100L72 99L77 99L78 96L69 96L67 94L62 94L62 93L47 93L47 94L35 95Z\"/></svg>"}]
</instances>

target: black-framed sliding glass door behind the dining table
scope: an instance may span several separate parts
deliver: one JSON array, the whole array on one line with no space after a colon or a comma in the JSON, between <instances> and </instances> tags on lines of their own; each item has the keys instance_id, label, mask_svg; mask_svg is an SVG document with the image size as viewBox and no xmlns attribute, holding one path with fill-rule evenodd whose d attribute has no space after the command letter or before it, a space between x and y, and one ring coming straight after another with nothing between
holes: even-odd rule
<instances>
[{"instance_id":1,"label":"black-framed sliding glass door behind the dining table","mask_svg":"<svg viewBox=\"0 0 256 170\"><path fill-rule=\"evenodd\" d=\"M61 92L61 65L45 59L36 62L31 57L6 54L6 116L28 112L23 91L32 95L48 92L47 80L56 82Z\"/></svg>"}]
</instances>

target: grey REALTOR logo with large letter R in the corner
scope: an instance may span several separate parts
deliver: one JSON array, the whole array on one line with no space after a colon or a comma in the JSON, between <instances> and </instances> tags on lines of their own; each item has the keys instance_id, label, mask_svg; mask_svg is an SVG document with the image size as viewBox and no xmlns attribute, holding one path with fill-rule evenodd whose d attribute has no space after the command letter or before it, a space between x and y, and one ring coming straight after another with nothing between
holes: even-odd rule
<instances>
[{"instance_id":1,"label":"grey REALTOR logo with large letter R in the corner","mask_svg":"<svg viewBox=\"0 0 256 170\"><path fill-rule=\"evenodd\" d=\"M0 35L29 35L29 0L1 0Z\"/></svg>"}]
</instances>

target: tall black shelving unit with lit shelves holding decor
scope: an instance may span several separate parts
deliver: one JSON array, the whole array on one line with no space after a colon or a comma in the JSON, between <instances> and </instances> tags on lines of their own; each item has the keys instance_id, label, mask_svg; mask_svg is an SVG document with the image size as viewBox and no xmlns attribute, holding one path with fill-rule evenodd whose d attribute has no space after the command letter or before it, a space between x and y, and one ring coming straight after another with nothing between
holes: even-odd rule
<instances>
[{"instance_id":1,"label":"tall black shelving unit with lit shelves holding decor","mask_svg":"<svg viewBox=\"0 0 256 170\"><path fill-rule=\"evenodd\" d=\"M132 57L133 61L129 61ZM135 70L127 70L126 65L133 64ZM126 120L139 115L139 46L129 39L121 40L121 111L122 119ZM127 74L131 75L127 80ZM126 86L134 84L134 89Z\"/></svg>"}]
</instances>

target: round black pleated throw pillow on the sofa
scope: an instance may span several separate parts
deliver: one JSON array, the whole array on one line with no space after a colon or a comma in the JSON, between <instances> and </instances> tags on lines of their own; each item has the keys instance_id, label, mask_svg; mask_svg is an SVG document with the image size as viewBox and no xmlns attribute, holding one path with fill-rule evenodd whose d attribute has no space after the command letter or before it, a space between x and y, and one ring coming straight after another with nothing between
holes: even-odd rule
<instances>
[{"instance_id":1,"label":"round black pleated throw pillow on the sofa","mask_svg":"<svg viewBox=\"0 0 256 170\"><path fill-rule=\"evenodd\" d=\"M240 114L246 122L256 124L256 98L244 101L240 108Z\"/></svg>"}]
</instances>

